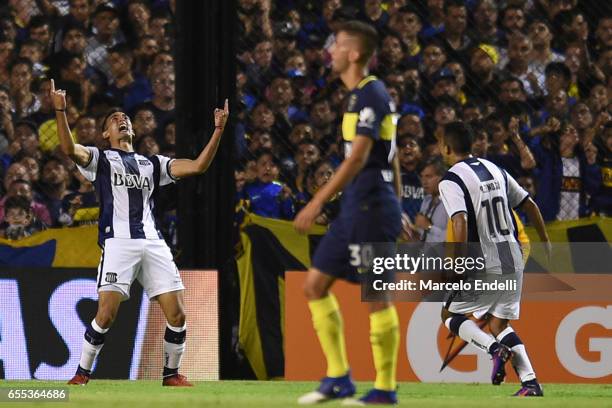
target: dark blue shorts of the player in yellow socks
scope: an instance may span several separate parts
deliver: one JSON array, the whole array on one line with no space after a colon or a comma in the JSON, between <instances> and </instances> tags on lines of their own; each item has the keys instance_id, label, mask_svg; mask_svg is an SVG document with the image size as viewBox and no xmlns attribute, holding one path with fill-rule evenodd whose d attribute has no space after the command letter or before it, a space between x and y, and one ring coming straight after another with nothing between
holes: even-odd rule
<instances>
[{"instance_id":1,"label":"dark blue shorts of the player in yellow socks","mask_svg":"<svg viewBox=\"0 0 612 408\"><path fill-rule=\"evenodd\" d=\"M319 242L312 266L326 275L360 283L366 274L359 273L355 265L355 251L362 243L395 243L401 224L399 202L393 197L354 209L343 208Z\"/></svg>"}]
</instances>

